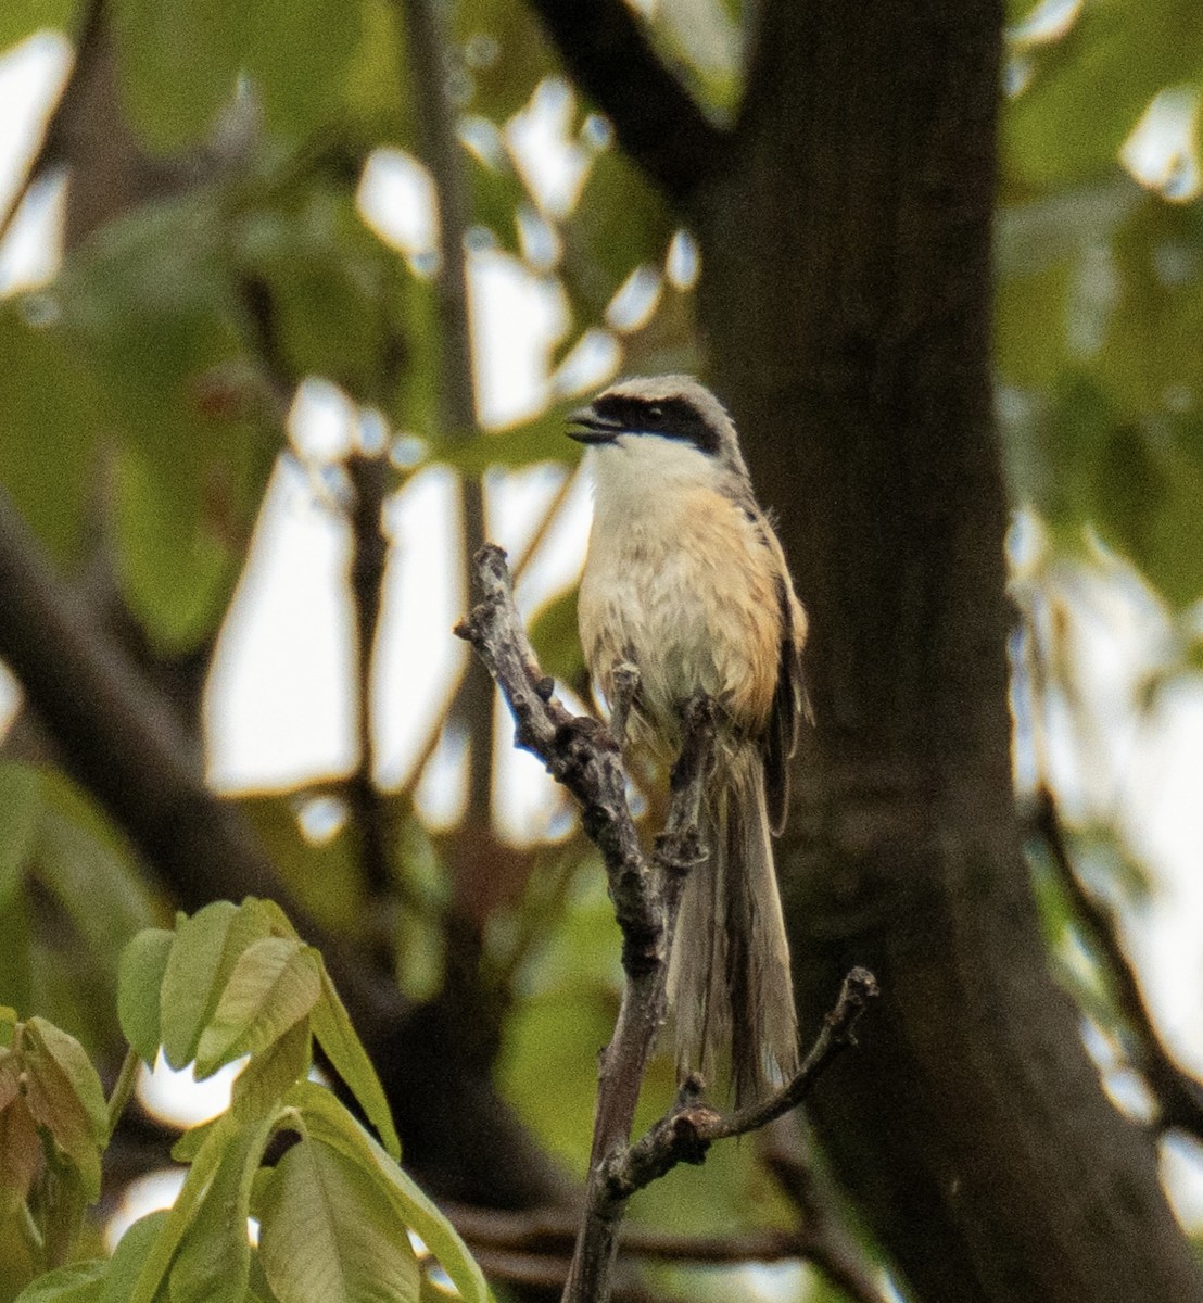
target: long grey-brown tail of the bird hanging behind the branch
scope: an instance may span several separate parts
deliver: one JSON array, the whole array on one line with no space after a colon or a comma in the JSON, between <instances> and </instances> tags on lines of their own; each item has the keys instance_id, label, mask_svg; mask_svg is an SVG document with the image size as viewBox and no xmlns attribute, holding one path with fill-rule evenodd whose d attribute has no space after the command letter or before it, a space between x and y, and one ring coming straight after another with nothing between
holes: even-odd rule
<instances>
[{"instance_id":1,"label":"long grey-brown tail of the bird hanging behind the branch","mask_svg":"<svg viewBox=\"0 0 1203 1303\"><path fill-rule=\"evenodd\" d=\"M686 883L669 999L678 1071L714 1080L729 1066L740 1106L772 1088L774 1066L785 1078L798 1070L798 1016L759 749L723 757L713 784L703 816L710 856Z\"/></svg>"}]
</instances>

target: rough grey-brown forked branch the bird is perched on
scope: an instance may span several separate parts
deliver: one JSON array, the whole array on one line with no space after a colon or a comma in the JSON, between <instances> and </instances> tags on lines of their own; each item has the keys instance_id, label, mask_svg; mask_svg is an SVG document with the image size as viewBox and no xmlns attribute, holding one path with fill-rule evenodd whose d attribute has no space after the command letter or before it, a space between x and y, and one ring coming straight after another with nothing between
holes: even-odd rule
<instances>
[{"instance_id":1,"label":"rough grey-brown forked branch the bird is perched on","mask_svg":"<svg viewBox=\"0 0 1203 1303\"><path fill-rule=\"evenodd\" d=\"M669 1113L630 1144L635 1105L667 1009L667 959L680 893L689 870L705 857L699 810L713 758L714 709L704 697L686 706L669 816L648 860L627 804L620 753L639 688L636 671L619 667L610 728L572 715L538 667L514 602L506 554L486 545L476 555L476 568L484 601L456 633L473 645L500 687L514 711L517 745L538 756L579 801L585 831L602 852L623 933L626 981L614 1036L601 1055L585 1214L564 1287L564 1303L606 1303L631 1195L679 1162L701 1162L714 1140L753 1131L795 1108L835 1054L854 1044L854 1027L877 985L863 968L848 973L802 1068L768 1100L723 1115L703 1102L701 1080L689 1078Z\"/></svg>"}]
</instances>

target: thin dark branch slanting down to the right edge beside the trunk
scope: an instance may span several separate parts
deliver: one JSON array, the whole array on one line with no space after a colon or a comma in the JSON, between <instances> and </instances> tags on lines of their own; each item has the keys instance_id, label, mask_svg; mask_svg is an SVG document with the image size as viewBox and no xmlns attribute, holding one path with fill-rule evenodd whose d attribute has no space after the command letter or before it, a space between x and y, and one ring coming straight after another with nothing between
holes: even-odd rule
<instances>
[{"instance_id":1,"label":"thin dark branch slanting down to the right edge beside the trunk","mask_svg":"<svg viewBox=\"0 0 1203 1303\"><path fill-rule=\"evenodd\" d=\"M1041 787L1036 794L1035 823L1070 898L1074 913L1090 933L1095 949L1110 972L1120 1015L1135 1037L1133 1054L1137 1067L1148 1081L1161 1109L1160 1127L1163 1130L1178 1127L1203 1140L1203 1083L1178 1066L1161 1040L1144 1001L1144 993L1140 990L1140 980L1125 954L1112 911L1086 890L1074 872L1061 820L1057 816L1057 804L1048 787Z\"/></svg>"}]
</instances>

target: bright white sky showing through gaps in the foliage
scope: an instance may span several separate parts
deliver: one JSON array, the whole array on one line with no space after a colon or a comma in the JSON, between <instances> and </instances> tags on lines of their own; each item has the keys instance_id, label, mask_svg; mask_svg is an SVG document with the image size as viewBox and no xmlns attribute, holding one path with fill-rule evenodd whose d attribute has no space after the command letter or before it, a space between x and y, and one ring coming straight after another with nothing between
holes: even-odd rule
<instances>
[{"instance_id":1,"label":"bright white sky showing through gaps in the foliage","mask_svg":"<svg viewBox=\"0 0 1203 1303\"><path fill-rule=\"evenodd\" d=\"M0 205L35 145L68 59L65 42L50 35L0 59ZM583 165L579 152L557 143L566 111L563 94L553 89L517 126L528 165L562 199L579 184ZM1125 163L1155 181L1180 158L1173 134L1159 137L1146 124L1144 136L1129 142ZM412 160L395 151L374 156L361 205L370 224L407 257L429 254L434 240L429 181ZM0 294L55 274L60 207L57 182L30 195L0 246ZM473 253L471 274L482 418L504 423L546 400L547 351L567 327L566 309L545 281L487 250ZM598 335L570 374L587 387L616 365L613 337ZM356 413L338 391L317 382L302 387L289 420L296 455L276 466L218 648L206 723L210 774L219 788L292 786L353 764L343 688L351 676L351 642L340 598L348 537L330 507L338 493L330 468L355 439L356 427ZM491 537L519 549L562 474L536 468L490 477ZM414 476L387 508L392 550L375 684L378 777L387 786L405 777L424 726L463 666L464 650L450 633L465 602L455 580L459 559L450 546L456 509L454 481L441 468ZM573 581L587 528L588 490L579 483L520 590L527 611ZM1035 551L1018 550L1021 584L1022 556ZM1126 938L1164 1035L1183 1065L1203 1075L1203 688L1176 687L1142 723L1125 702L1134 698L1134 685L1148 667L1165 657L1164 611L1129 580L1079 576L1071 586L1074 609L1082 612L1086 696L1097 706L1087 711L1094 722L1086 734L1069 713L1052 728L1053 771L1071 816L1117 816L1147 856L1156 889L1144 908L1126 916ZM16 687L0 668L0 727L16 700ZM506 831L516 838L537 835L551 809L540 766L503 747L499 782L514 794L504 803ZM457 760L448 748L428 770L425 810L435 820L454 818L459 790ZM1092 1044L1092 1050L1107 1059L1105 1046ZM1117 1088L1122 1092L1123 1083ZM210 1101L201 1109L214 1106ZM1198 1147L1176 1139L1164 1147L1164 1162L1180 1216L1203 1229Z\"/></svg>"}]
</instances>

